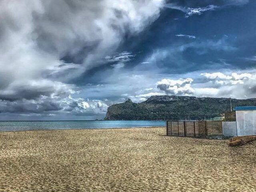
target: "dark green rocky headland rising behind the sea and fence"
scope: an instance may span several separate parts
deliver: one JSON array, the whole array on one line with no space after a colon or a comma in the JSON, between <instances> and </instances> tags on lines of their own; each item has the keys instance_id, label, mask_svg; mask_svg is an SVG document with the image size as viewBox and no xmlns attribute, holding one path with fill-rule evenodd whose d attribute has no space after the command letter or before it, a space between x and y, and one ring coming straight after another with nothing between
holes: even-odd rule
<instances>
[{"instance_id":1,"label":"dark green rocky headland rising behind the sea and fence","mask_svg":"<svg viewBox=\"0 0 256 192\"><path fill-rule=\"evenodd\" d=\"M256 98L232 99L232 107L255 105ZM128 99L110 106L105 120L201 120L220 116L225 111L230 111L229 98L152 96L138 104Z\"/></svg>"}]
</instances>

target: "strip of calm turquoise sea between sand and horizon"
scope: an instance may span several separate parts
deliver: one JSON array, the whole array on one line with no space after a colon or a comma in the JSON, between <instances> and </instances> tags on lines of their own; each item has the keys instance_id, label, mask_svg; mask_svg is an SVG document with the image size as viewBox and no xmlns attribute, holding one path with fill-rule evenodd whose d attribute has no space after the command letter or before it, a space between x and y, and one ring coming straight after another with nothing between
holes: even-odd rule
<instances>
[{"instance_id":1,"label":"strip of calm turquoise sea between sand and horizon","mask_svg":"<svg viewBox=\"0 0 256 192\"><path fill-rule=\"evenodd\" d=\"M0 131L166 126L165 121L0 121Z\"/></svg>"}]
</instances>

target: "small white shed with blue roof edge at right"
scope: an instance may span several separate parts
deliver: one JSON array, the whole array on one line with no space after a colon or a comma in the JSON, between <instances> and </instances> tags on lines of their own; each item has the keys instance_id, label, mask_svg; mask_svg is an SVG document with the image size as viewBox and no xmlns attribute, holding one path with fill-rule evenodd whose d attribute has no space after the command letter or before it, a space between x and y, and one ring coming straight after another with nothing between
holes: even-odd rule
<instances>
[{"instance_id":1,"label":"small white shed with blue roof edge at right","mask_svg":"<svg viewBox=\"0 0 256 192\"><path fill-rule=\"evenodd\" d=\"M256 135L256 106L239 106L235 110L237 136Z\"/></svg>"}]
</instances>

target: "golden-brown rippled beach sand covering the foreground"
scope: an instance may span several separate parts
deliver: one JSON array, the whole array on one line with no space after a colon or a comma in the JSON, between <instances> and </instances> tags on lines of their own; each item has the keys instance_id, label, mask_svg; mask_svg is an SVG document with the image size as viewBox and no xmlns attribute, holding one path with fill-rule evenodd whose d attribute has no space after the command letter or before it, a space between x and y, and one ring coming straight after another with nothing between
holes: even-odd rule
<instances>
[{"instance_id":1,"label":"golden-brown rippled beach sand covering the foreground","mask_svg":"<svg viewBox=\"0 0 256 192\"><path fill-rule=\"evenodd\" d=\"M256 146L165 128L0 132L1 192L253 192Z\"/></svg>"}]
</instances>

